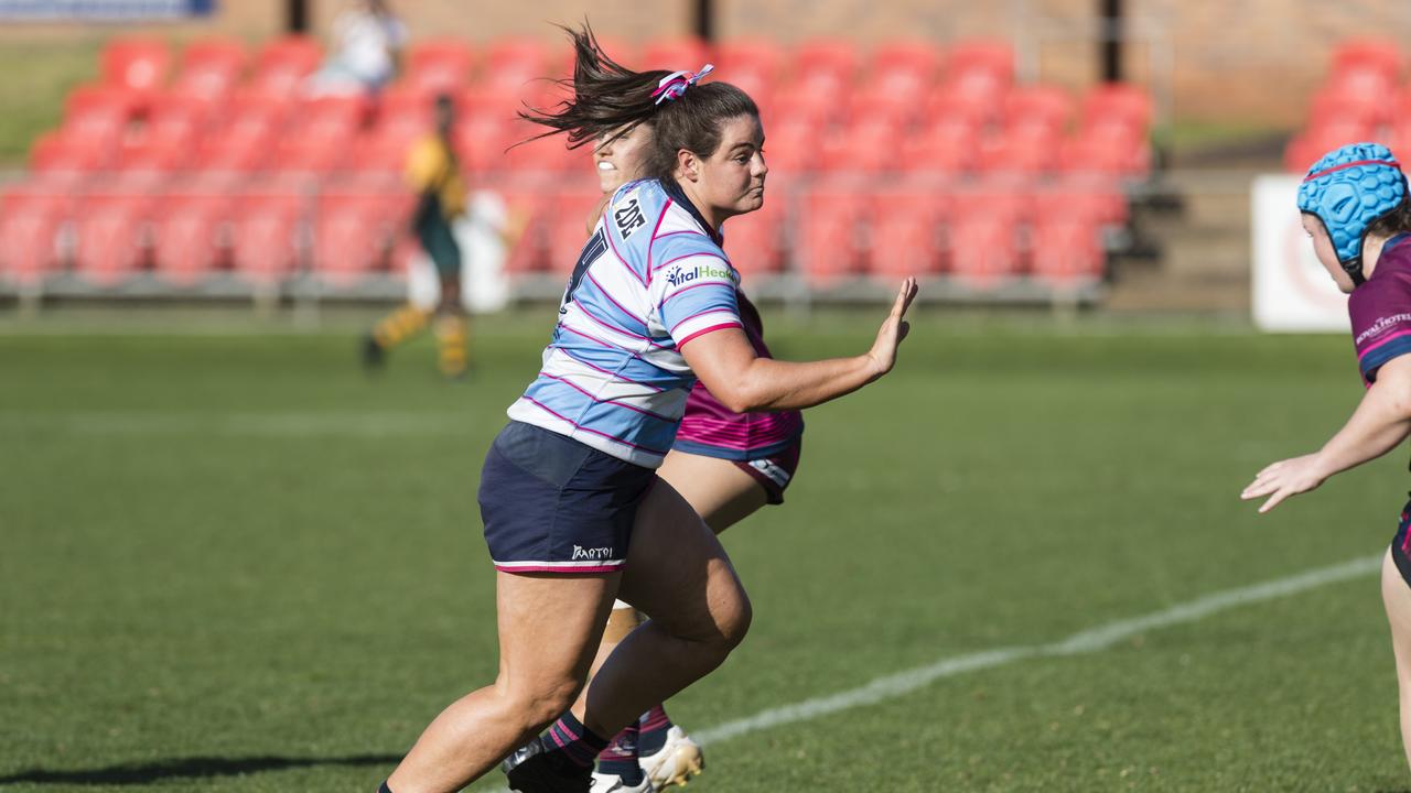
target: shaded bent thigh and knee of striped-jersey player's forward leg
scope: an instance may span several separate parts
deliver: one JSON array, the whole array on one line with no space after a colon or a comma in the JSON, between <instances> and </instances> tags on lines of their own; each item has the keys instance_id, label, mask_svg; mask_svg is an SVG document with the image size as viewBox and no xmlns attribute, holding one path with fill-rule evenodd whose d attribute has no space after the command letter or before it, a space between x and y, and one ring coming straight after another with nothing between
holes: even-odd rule
<instances>
[{"instance_id":1,"label":"shaded bent thigh and knee of striped-jersey player's forward leg","mask_svg":"<svg viewBox=\"0 0 1411 793\"><path fill-rule=\"evenodd\" d=\"M618 597L672 635L738 641L749 598L715 533L669 483L642 501Z\"/></svg>"}]
</instances>

